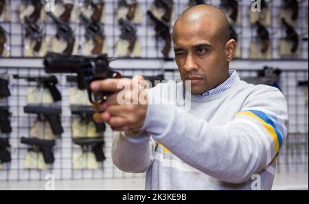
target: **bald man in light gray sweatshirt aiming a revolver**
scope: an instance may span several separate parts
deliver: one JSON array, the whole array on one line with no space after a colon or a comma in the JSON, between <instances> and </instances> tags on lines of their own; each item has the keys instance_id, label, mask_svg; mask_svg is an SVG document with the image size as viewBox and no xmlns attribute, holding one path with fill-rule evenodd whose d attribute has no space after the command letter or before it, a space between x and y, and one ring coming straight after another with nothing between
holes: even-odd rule
<instances>
[{"instance_id":1,"label":"bald man in light gray sweatshirt aiming a revolver","mask_svg":"<svg viewBox=\"0 0 309 204\"><path fill-rule=\"evenodd\" d=\"M116 92L96 107L105 112L94 115L119 131L113 139L115 166L147 172L146 190L271 190L287 132L284 95L274 87L247 84L229 71L236 41L229 36L227 17L214 6L185 10L173 40L181 80L191 84L191 93L185 93L190 110L164 103L172 95L170 83L146 94L128 79L91 84L94 91ZM117 87L125 81L126 91ZM177 94L183 87L177 84ZM119 104L118 91L130 101L133 92L144 94L147 103ZM154 100L161 105L150 104Z\"/></svg>"}]
</instances>

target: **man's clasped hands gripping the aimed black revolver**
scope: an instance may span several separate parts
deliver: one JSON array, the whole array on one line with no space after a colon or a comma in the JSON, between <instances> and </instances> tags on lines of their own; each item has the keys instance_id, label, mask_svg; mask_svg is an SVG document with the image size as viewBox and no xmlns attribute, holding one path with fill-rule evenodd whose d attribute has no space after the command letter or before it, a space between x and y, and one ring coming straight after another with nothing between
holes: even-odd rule
<instances>
[{"instance_id":1,"label":"man's clasped hands gripping the aimed black revolver","mask_svg":"<svg viewBox=\"0 0 309 204\"><path fill-rule=\"evenodd\" d=\"M148 109L148 84L141 76L133 79L106 79L91 83L95 92L113 92L104 104L93 108L95 122L106 122L113 131L139 131Z\"/></svg>"}]
</instances>

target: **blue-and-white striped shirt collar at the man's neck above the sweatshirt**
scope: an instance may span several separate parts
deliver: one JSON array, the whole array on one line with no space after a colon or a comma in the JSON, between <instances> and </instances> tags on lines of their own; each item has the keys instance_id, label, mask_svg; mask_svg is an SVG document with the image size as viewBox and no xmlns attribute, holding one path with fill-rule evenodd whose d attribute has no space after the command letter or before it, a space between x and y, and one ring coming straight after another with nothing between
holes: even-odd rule
<instances>
[{"instance_id":1,"label":"blue-and-white striped shirt collar at the man's neck above the sweatshirt","mask_svg":"<svg viewBox=\"0 0 309 204\"><path fill-rule=\"evenodd\" d=\"M237 84L239 81L240 81L240 78L236 70L229 70L229 78L225 80L225 82L223 82L222 84L220 84L218 87L214 89L210 89L209 91L202 93L201 96L214 95L216 93L220 93L222 91L225 91L233 87L233 85Z\"/></svg>"}]
</instances>

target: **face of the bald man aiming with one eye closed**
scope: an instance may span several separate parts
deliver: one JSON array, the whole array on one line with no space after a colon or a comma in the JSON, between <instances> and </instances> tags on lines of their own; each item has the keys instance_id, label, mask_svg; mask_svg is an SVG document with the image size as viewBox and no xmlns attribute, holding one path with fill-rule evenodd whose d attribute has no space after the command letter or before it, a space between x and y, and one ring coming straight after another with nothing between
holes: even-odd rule
<instances>
[{"instance_id":1,"label":"face of the bald man aiming with one eye closed","mask_svg":"<svg viewBox=\"0 0 309 204\"><path fill-rule=\"evenodd\" d=\"M218 38L211 21L178 23L173 37L181 80L190 80L192 94L205 93L227 79L225 42Z\"/></svg>"}]
</instances>

